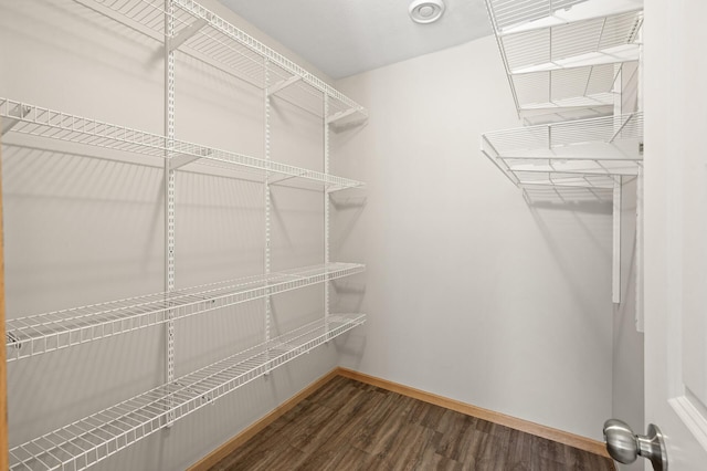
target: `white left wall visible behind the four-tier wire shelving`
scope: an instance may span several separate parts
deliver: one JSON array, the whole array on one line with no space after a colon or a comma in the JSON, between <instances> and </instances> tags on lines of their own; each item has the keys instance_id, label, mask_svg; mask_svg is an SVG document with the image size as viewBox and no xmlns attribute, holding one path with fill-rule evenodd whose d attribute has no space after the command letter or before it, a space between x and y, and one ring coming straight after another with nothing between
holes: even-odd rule
<instances>
[{"instance_id":1,"label":"white left wall visible behind the four-tier wire shelving","mask_svg":"<svg viewBox=\"0 0 707 471\"><path fill-rule=\"evenodd\" d=\"M159 42L80 2L0 0L0 96L162 134L162 54ZM178 55L178 138L262 157L262 108L257 88ZM321 170L320 123L275 100L273 159ZM85 156L94 153L6 135L8 318L163 290L162 160ZM262 273L263 201L260 184L180 171L177 287ZM281 187L273 202L273 269L321 263L323 193ZM282 333L321 315L323 290L273 305ZM263 326L262 302L178 322L177 376L262 342ZM150 327L10 364L10 446L161 385L163 350L163 328ZM184 469L337 363L330 343L95 469Z\"/></svg>"}]
</instances>

